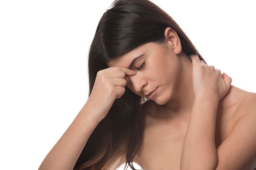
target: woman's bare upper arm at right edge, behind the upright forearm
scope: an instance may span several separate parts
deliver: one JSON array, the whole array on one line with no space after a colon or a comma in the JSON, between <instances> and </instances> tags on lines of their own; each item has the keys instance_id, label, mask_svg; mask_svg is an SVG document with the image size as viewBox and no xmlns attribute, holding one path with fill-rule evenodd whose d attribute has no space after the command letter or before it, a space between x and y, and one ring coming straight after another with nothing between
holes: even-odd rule
<instances>
[{"instance_id":1,"label":"woman's bare upper arm at right edge, behind the upright forearm","mask_svg":"<svg viewBox=\"0 0 256 170\"><path fill-rule=\"evenodd\" d=\"M256 167L256 94L247 92L240 102L235 126L217 148L216 170L253 169ZM235 148L235 149L234 149Z\"/></svg>"}]
</instances>

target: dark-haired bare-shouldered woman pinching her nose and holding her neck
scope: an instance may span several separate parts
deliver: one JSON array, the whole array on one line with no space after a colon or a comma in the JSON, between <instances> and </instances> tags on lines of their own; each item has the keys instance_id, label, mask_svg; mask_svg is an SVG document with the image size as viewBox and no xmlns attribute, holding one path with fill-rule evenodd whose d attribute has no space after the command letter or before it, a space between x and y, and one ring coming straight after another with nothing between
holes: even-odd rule
<instances>
[{"instance_id":1,"label":"dark-haired bare-shouldered woman pinching her nose and holding her neck","mask_svg":"<svg viewBox=\"0 0 256 170\"><path fill-rule=\"evenodd\" d=\"M88 101L39 169L256 167L256 94L208 66L152 2L115 0L88 67Z\"/></svg>"}]
</instances>

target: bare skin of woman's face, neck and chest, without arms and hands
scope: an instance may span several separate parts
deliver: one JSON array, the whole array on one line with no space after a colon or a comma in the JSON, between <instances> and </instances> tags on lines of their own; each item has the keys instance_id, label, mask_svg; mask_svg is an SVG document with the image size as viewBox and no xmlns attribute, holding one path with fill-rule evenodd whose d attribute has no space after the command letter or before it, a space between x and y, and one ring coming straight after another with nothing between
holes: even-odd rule
<instances>
[{"instance_id":1,"label":"bare skin of woman's face, neck and chest, without arms and hands","mask_svg":"<svg viewBox=\"0 0 256 170\"><path fill-rule=\"evenodd\" d=\"M110 61L108 65L128 67L134 56L145 55L135 62L135 68L146 65L134 76L128 76L127 86L139 96L158 87L157 93L141 105L146 118L143 144L134 162L144 170L179 170L184 137L195 96L192 83L192 63L182 52L180 39L171 28L166 28L166 48L147 43L140 48ZM136 69L135 69L136 71ZM219 100L216 116L216 149L229 136L236 122L255 109L256 94L231 85ZM203 103L202 103L203 105ZM125 163L125 153L117 155L110 169ZM171 168L170 168L171 167ZM253 170L254 167L248 167Z\"/></svg>"}]
</instances>

